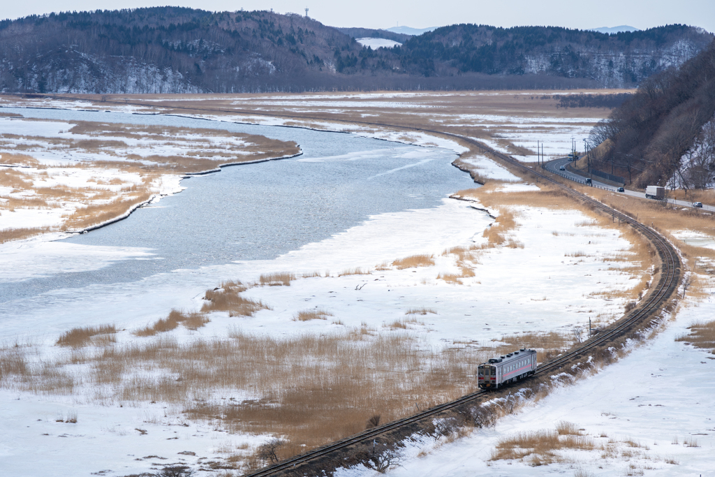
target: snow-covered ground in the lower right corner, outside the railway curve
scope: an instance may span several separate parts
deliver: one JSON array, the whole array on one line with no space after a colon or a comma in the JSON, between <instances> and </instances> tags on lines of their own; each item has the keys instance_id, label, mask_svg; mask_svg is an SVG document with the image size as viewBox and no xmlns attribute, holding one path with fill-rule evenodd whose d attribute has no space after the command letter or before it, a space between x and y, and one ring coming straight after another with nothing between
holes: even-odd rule
<instances>
[{"instance_id":1,"label":"snow-covered ground in the lower right corner, outside the railway curve","mask_svg":"<svg viewBox=\"0 0 715 477\"><path fill-rule=\"evenodd\" d=\"M715 293L710 289L709 293ZM419 438L405 448L390 476L715 476L715 358L675 339L692 323L711 318L711 297L691 303L666 329L618 363L574 385L558 386L467 438ZM592 450L555 451L547 466L523 460L490 460L500 441L531 431L555 431L566 421L593 442ZM367 468L341 477L373 476Z\"/></svg>"}]
</instances>

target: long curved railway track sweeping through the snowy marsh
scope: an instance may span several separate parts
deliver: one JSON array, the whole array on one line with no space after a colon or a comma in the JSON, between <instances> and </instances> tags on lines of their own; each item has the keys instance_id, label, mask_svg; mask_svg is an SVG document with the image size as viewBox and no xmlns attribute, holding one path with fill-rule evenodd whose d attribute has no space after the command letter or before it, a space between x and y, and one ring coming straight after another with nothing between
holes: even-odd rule
<instances>
[{"instance_id":1,"label":"long curved railway track sweeping through the snowy marsh","mask_svg":"<svg viewBox=\"0 0 715 477\"><path fill-rule=\"evenodd\" d=\"M53 96L49 96L49 97L53 97ZM87 100L86 98L77 98L77 97L53 97L53 98L54 99L82 99L85 101ZM107 101L107 102L112 102L112 101ZM129 103L116 102L116 103L122 104L122 105L132 104L132 105L142 106L142 107L148 106L145 103L132 103L132 102L129 102ZM157 105L155 107L166 107L166 106ZM246 110L240 110L240 109L218 109L218 108L217 109L200 109L200 108L195 108L195 107L181 107L181 106L172 107L172 108L173 109L196 110L196 111L201 111L201 112L227 112L227 113L232 113L232 114L249 114L249 115L254 115L254 116L281 117L281 118L302 119L302 120L315 120L316 119L316 118L311 118L311 117L304 117L304 116L297 116L297 115L290 115L290 114L275 114L275 113L268 113L268 112L246 111ZM576 361L578 361L578 359L581 357L581 355L585 355L589 351L596 350L596 348L607 346L608 343L611 343L614 340L617 340L619 338L627 337L629 334L640 329L644 324L649 323L651 320L658 318L659 312L664 308L664 306L666 306L669 303L669 301L671 300L671 297L674 296L674 294L679 286L679 283L681 281L681 262L680 262L679 254L675 250L675 248L670 244L670 242L668 242L668 240L666 240L662 235L660 235L658 232L656 232L656 230L653 230L650 227L647 227L646 225L641 224L641 222L634 220L632 217L629 217L628 215L625 215L622 212L618 212L618 210L608 207L607 205L603 204L602 202L598 202L598 200L588 197L588 195L583 194L582 192L578 192L577 190L574 190L573 188L568 187L567 185L564 185L561 182L553 180L552 177L549 177L548 175L543 174L543 172L539 172L538 170L531 169L530 167L526 167L524 164L521 164L521 162L518 162L518 160L514 159L513 157L510 157L506 154L502 154L501 152L495 151L494 149L491 149L490 147L486 147L485 144L481 144L480 142L477 142L474 139L471 139L469 137L463 137L458 134L452 134L449 132L435 131L432 129L422 129L422 128L418 128L418 127L399 126L396 124L383 124L383 123L377 123L377 122L345 121L345 120L340 120L340 119L325 119L325 120L329 120L332 122L349 123L349 124L364 124L367 126L390 127L390 128L403 129L403 130L410 129L410 130L413 130L416 132L428 132L428 133L432 133L432 134L438 134L438 135L444 136L444 137L450 137L452 139L458 139L463 142L468 142L469 144L472 144L475 147L479 147L483 152L488 152L489 154L492 154L494 157L500 159L501 161L506 162L513 167L517 167L518 169L521 169L523 172L532 174L533 176L538 177L540 180L543 180L545 182L550 183L551 185L558 187L559 189L563 190L564 192L567 192L568 194L572 195L576 200L581 200L582 202L586 203L587 205L590 205L594 209L601 210L601 212L604 212L607 215L612 215L613 217L618 217L618 219L621 222L625 222L626 224L631 225L631 227L638 230L638 232L641 232L641 234L644 235L651 242L651 244L655 247L656 252L658 253L660 260L661 260L661 273L660 273L659 282L654 287L651 288L651 292L643 300L643 303L640 303L637 308L631 310L629 313L626 313L626 315L624 315L620 320L616 321L616 323L613 323L613 325L609 326L608 328L603 329L601 331L601 333L596 335L596 337L586 340L586 342L584 342L577 349L568 351L567 353L563 353L563 355L558 356L558 358L555 358L555 359L549 361L548 363L541 364L536 369L535 375L537 375L537 376L538 375L556 374L556 373L558 373L559 370L566 367L566 365L573 365ZM525 378L525 380L528 380L528 379L529 378ZM422 421L425 418L433 417L435 415L442 413L445 410L458 408L460 405L463 405L465 403L478 402L478 400L480 400L480 398L488 397L490 395L490 393L493 393L493 392L494 391L480 390L476 393L465 395L462 398L459 398L457 400L453 400L449 403L437 405L433 408L424 410L424 411L417 413L415 415L410 415L407 418L398 419L397 421L392 421L390 423L386 423L383 426L377 426L375 428L370 428L367 431L363 431L362 433L355 434L354 436L350 436L348 438L342 439L340 441L336 441L334 443L330 443L327 446L316 448L312 451L301 454L299 456L294 456L292 458L288 458L285 461L277 463L273 466L270 466L267 468L262 468L260 471L246 474L245 477L266 477L266 476L276 476L276 475L281 475L281 474L285 475L287 473L293 473L293 471L297 471L298 473L300 473L300 468L298 468L298 466L301 466L302 464L309 463L311 461L315 461L317 459L324 458L326 456L330 456L330 454L332 454L332 453L336 453L337 451L345 450L345 449L350 448L351 446L355 446L356 444L359 444L359 443L369 442L370 440L378 438L378 436L382 436L385 433L389 433L390 431L395 431L399 428L404 428L406 426L410 426L410 424L417 423L418 421ZM302 475L302 473L300 475Z\"/></svg>"}]
</instances>

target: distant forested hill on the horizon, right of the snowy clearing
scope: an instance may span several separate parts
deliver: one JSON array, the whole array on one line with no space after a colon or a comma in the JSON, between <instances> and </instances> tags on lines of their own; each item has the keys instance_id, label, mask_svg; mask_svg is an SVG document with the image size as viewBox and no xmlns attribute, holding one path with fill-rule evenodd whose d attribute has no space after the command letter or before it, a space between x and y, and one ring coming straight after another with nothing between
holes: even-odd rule
<instances>
[{"instance_id":1,"label":"distant forested hill on the horizon, right of the snowy clearing","mask_svg":"<svg viewBox=\"0 0 715 477\"><path fill-rule=\"evenodd\" d=\"M603 34L555 26L445 26L415 36L398 52L419 74L550 74L624 87L694 56L713 35L691 26Z\"/></svg>"}]
</instances>

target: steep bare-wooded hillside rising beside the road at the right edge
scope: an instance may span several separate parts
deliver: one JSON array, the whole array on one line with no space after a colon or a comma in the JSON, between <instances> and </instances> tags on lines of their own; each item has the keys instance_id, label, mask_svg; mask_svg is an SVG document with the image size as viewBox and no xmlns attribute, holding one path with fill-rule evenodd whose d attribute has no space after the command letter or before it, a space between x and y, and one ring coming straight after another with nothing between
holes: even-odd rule
<instances>
[{"instance_id":1,"label":"steep bare-wooded hillside rising beside the road at the right edge","mask_svg":"<svg viewBox=\"0 0 715 477\"><path fill-rule=\"evenodd\" d=\"M633 185L715 186L715 41L681 65L646 79L593 129L597 169Z\"/></svg>"}]
</instances>

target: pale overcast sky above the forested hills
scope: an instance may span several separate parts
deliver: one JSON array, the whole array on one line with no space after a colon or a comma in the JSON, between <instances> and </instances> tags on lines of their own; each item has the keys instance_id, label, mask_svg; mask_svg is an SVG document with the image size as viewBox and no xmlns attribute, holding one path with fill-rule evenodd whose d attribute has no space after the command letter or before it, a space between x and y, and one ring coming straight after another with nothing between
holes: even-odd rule
<instances>
[{"instance_id":1,"label":"pale overcast sky above the forested hills","mask_svg":"<svg viewBox=\"0 0 715 477\"><path fill-rule=\"evenodd\" d=\"M413 28L475 23L495 26L556 25L588 29L630 25L638 29L682 23L715 31L715 0L4 0L0 19L52 11L123 9L159 5L214 11L267 10L305 14L330 26Z\"/></svg>"}]
</instances>

